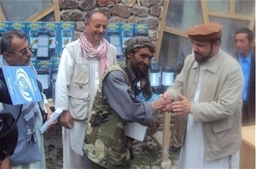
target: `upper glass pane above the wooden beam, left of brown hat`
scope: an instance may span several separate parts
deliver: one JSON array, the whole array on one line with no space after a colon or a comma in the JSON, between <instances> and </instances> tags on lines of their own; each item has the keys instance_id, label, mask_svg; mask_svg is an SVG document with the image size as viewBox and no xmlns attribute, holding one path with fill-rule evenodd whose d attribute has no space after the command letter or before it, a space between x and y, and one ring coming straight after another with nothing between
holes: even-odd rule
<instances>
[{"instance_id":1,"label":"upper glass pane above the wooden beam, left of brown hat","mask_svg":"<svg viewBox=\"0 0 256 169\"><path fill-rule=\"evenodd\" d=\"M166 14L166 25L181 30L202 23L201 2L199 0L172 0Z\"/></svg>"}]
</instances>

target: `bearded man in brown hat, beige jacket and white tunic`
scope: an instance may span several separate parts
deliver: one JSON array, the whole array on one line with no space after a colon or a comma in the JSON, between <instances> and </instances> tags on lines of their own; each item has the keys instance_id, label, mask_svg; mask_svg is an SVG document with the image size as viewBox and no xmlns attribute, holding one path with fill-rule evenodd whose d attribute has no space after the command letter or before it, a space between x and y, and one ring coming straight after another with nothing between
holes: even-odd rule
<instances>
[{"instance_id":1,"label":"bearded man in brown hat, beige jacket and white tunic","mask_svg":"<svg viewBox=\"0 0 256 169\"><path fill-rule=\"evenodd\" d=\"M166 110L187 121L178 168L239 168L243 77L219 48L221 29L218 23L189 28L194 54L164 93L175 99Z\"/></svg>"}]
</instances>

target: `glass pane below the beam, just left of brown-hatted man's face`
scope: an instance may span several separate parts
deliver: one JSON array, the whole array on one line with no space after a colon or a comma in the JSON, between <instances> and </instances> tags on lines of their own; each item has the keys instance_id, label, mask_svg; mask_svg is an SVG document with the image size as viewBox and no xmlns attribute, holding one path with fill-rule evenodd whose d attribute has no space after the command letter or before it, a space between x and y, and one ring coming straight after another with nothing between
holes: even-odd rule
<instances>
[{"instance_id":1,"label":"glass pane below the beam, just left of brown-hatted man's face","mask_svg":"<svg viewBox=\"0 0 256 169\"><path fill-rule=\"evenodd\" d=\"M160 67L174 65L179 54L189 55L192 53L191 42L187 37L180 37L165 32L160 48L158 64Z\"/></svg>"}]
</instances>

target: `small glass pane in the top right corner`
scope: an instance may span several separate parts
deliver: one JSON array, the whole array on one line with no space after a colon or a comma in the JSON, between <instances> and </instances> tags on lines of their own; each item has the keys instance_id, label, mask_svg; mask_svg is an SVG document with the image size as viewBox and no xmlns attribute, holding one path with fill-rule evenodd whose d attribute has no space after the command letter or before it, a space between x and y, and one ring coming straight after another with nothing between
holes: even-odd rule
<instances>
[{"instance_id":1,"label":"small glass pane in the top right corner","mask_svg":"<svg viewBox=\"0 0 256 169\"><path fill-rule=\"evenodd\" d=\"M254 14L255 0L236 0L236 14ZM255 16L255 14L254 14Z\"/></svg>"}]
</instances>

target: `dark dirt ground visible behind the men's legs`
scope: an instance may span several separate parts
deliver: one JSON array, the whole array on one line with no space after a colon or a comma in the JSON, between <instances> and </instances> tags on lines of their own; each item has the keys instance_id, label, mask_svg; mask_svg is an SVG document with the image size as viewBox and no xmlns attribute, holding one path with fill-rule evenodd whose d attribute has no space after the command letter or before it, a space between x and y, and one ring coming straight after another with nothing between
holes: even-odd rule
<instances>
[{"instance_id":1,"label":"dark dirt ground visible behind the men's legs","mask_svg":"<svg viewBox=\"0 0 256 169\"><path fill-rule=\"evenodd\" d=\"M54 130L45 134L46 144L46 167L47 169L62 168L62 141L61 141L61 125L58 124ZM131 169L160 169L161 149L150 137L144 142L134 142L134 155ZM172 169L177 168L178 154L170 155L172 161Z\"/></svg>"}]
</instances>

